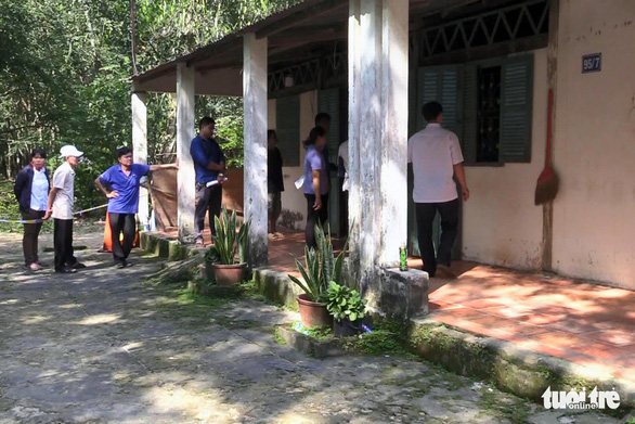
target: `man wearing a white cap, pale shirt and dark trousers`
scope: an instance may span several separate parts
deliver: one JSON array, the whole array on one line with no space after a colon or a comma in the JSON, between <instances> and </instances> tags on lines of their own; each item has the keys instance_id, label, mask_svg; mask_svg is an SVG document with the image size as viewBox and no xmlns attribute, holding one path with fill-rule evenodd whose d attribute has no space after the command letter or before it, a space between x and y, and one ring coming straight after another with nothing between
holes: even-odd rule
<instances>
[{"instance_id":1,"label":"man wearing a white cap, pale shirt and dark trousers","mask_svg":"<svg viewBox=\"0 0 635 424\"><path fill-rule=\"evenodd\" d=\"M75 201L75 167L83 155L74 145L60 150L64 163L53 174L53 188L49 193L49 207L44 219L53 217L53 249L55 272L73 273L86 265L79 262L73 253L73 204Z\"/></svg>"}]
</instances>

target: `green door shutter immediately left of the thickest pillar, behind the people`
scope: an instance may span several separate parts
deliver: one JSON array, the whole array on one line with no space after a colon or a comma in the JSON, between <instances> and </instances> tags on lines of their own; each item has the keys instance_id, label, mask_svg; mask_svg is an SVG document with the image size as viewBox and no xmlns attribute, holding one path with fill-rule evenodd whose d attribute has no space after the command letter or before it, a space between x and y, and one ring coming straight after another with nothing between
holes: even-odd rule
<instances>
[{"instance_id":1,"label":"green door shutter immediately left of the thickest pillar, behind the people","mask_svg":"<svg viewBox=\"0 0 635 424\"><path fill-rule=\"evenodd\" d=\"M331 128L326 134L328 143L328 157L331 164L337 164L337 152L339 150L339 88L320 90L318 92L318 112L325 112L331 116ZM328 168L328 166L327 166ZM340 235L340 208L339 208L339 178L336 172L328 170L331 178L331 193L328 195L328 224L331 232Z\"/></svg>"}]
</instances>

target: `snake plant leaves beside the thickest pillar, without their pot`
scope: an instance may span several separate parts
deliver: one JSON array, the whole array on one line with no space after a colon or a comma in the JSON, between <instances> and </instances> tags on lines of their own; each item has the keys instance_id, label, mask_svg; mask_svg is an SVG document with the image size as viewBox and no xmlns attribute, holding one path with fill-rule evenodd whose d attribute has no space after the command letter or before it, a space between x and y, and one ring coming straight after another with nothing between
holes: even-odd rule
<instances>
[{"instance_id":1,"label":"snake plant leaves beside the thickest pillar, without their pot","mask_svg":"<svg viewBox=\"0 0 635 424\"><path fill-rule=\"evenodd\" d=\"M326 233L322 226L315 226L315 242L318 248L304 246L304 264L294 258L296 267L302 275L303 282L295 275L288 274L312 301L323 303L326 299L326 290L331 281L341 281L344 258L348 247L348 239L337 258L333 253L331 230L327 227Z\"/></svg>"}]
</instances>

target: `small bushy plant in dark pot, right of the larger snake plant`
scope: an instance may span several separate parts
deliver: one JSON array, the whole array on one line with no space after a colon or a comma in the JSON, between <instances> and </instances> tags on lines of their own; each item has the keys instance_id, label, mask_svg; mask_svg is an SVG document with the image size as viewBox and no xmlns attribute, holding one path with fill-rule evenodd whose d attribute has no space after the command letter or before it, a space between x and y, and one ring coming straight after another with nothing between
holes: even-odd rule
<instances>
[{"instance_id":1,"label":"small bushy plant in dark pot, right of the larger snake plant","mask_svg":"<svg viewBox=\"0 0 635 424\"><path fill-rule=\"evenodd\" d=\"M326 309L335 320L336 337L346 337L362 332L362 320L366 314L366 300L360 293L332 281L326 291Z\"/></svg>"}]
</instances>

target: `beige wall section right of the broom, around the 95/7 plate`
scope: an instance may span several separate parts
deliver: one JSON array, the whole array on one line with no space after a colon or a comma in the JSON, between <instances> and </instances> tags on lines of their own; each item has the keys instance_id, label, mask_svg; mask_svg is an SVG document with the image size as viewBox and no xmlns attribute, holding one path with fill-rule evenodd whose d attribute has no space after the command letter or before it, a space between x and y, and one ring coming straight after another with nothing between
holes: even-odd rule
<instances>
[{"instance_id":1,"label":"beige wall section right of the broom, around the 95/7 plate","mask_svg":"<svg viewBox=\"0 0 635 424\"><path fill-rule=\"evenodd\" d=\"M554 267L635 288L635 1L560 8ZM601 72L582 74L598 52Z\"/></svg>"}]
</instances>

